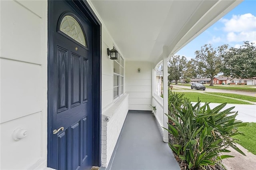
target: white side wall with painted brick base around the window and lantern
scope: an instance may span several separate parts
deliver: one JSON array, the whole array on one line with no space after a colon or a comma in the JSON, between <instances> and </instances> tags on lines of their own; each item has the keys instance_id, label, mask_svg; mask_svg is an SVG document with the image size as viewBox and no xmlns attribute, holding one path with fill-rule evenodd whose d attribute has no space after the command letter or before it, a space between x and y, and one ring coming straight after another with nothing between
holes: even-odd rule
<instances>
[{"instance_id":1,"label":"white side wall with painted brick base around the window and lantern","mask_svg":"<svg viewBox=\"0 0 256 170\"><path fill-rule=\"evenodd\" d=\"M109 59L107 48L112 49L115 46L118 49L118 44L114 42L91 2L88 1L88 3L102 23L102 166L107 167L128 113L129 95L126 93L126 62L125 56L122 56L124 58L124 95L114 101L114 61ZM122 55L122 51L119 49L118 51ZM106 122L106 117L110 117L109 122Z\"/></svg>"}]
</instances>

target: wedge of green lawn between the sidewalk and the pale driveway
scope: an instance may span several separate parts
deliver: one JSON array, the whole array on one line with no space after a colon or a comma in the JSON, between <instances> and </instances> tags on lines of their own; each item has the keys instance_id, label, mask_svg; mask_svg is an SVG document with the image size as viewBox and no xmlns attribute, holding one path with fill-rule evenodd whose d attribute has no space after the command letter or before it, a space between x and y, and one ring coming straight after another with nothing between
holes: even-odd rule
<instances>
[{"instance_id":1,"label":"wedge of green lawn between the sidewalk and the pale driveway","mask_svg":"<svg viewBox=\"0 0 256 170\"><path fill-rule=\"evenodd\" d=\"M232 104L245 104L245 105L251 105L248 102L244 101L238 101L235 99L227 99L224 97L219 97L219 96L213 96L213 95L208 95L206 93L198 93L198 92L182 92L184 93L185 97L190 99L192 102L197 102L198 97L201 102L211 102L211 103L232 103Z\"/></svg>"}]
</instances>

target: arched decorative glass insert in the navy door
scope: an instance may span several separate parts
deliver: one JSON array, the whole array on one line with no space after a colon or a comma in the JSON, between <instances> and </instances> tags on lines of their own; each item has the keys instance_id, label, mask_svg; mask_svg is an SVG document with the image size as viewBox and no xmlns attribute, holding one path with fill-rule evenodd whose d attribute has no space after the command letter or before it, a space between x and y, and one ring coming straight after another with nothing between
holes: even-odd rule
<instances>
[{"instance_id":1,"label":"arched decorative glass insert in the navy door","mask_svg":"<svg viewBox=\"0 0 256 170\"><path fill-rule=\"evenodd\" d=\"M87 47L84 32L74 17L64 16L60 23L60 31Z\"/></svg>"}]
</instances>

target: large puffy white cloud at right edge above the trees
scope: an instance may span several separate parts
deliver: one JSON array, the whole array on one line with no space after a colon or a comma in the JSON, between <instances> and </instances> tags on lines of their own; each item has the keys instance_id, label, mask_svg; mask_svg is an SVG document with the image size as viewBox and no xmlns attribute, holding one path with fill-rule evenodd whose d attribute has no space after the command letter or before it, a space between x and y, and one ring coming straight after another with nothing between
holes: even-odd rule
<instances>
[{"instance_id":1,"label":"large puffy white cloud at right edge above the trees","mask_svg":"<svg viewBox=\"0 0 256 170\"><path fill-rule=\"evenodd\" d=\"M233 15L230 20L221 19L228 42L256 42L256 16L252 14Z\"/></svg>"}]
</instances>

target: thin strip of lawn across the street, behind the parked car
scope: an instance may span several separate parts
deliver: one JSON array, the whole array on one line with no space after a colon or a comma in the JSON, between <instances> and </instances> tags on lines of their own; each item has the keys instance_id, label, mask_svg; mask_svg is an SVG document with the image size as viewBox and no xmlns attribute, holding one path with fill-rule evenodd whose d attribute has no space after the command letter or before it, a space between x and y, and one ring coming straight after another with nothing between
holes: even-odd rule
<instances>
[{"instance_id":1,"label":"thin strip of lawn across the street, behind the parked car","mask_svg":"<svg viewBox=\"0 0 256 170\"><path fill-rule=\"evenodd\" d=\"M178 85L182 85L179 83ZM183 86L189 86L190 84L183 84ZM211 89L224 89L224 90L234 90L234 91L244 91L244 92L253 92L256 93L256 88L255 87L248 87L246 85L244 86L229 86L229 85L214 85L214 86L209 86L209 84L205 84L206 89L211 88Z\"/></svg>"}]
</instances>

